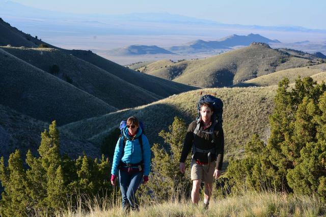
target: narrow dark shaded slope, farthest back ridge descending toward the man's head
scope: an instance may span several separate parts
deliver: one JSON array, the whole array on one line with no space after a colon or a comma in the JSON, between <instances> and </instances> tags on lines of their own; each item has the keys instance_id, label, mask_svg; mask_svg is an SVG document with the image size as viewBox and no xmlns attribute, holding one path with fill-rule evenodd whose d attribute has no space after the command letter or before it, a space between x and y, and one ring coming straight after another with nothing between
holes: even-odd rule
<instances>
[{"instance_id":1,"label":"narrow dark shaded slope, farthest back ridge descending toward the man's head","mask_svg":"<svg viewBox=\"0 0 326 217\"><path fill-rule=\"evenodd\" d=\"M161 96L163 98L169 97L174 94L180 94L180 92L185 92L193 89L198 89L198 87L188 86L180 84L177 82L171 82L166 79L158 78L151 75L146 75L126 67L120 66L112 61L105 59L85 50L65 50L69 54L84 59L89 63L125 80L136 86L140 86L154 94Z\"/></svg>"}]
</instances>

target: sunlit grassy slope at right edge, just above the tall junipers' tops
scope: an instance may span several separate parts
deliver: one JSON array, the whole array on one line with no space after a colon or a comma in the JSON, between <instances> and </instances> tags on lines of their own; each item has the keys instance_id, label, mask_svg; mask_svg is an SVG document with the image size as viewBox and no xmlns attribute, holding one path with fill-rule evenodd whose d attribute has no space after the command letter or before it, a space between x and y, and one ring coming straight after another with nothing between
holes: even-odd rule
<instances>
[{"instance_id":1,"label":"sunlit grassy slope at right edge, just above the tall junipers' tops","mask_svg":"<svg viewBox=\"0 0 326 217\"><path fill-rule=\"evenodd\" d=\"M324 69L325 68L325 69ZM294 69L287 69L278 72L274 72L268 75L263 75L258 78L254 78L242 83L236 84L234 86L271 86L277 85L284 77L287 77L290 80L290 83L293 83L298 76L308 77L316 75L320 72L326 71L326 64L320 64L311 67L301 67Z\"/></svg>"}]
</instances>

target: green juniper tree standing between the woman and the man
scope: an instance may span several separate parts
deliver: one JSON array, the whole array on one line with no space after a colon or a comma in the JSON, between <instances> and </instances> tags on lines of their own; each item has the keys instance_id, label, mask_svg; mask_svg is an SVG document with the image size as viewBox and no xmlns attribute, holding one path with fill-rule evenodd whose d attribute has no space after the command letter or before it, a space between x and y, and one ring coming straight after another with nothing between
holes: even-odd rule
<instances>
[{"instance_id":1,"label":"green juniper tree standing between the woman and the man","mask_svg":"<svg viewBox=\"0 0 326 217\"><path fill-rule=\"evenodd\" d=\"M174 118L169 131L161 131L159 136L165 141L166 146L154 144L152 151L152 173L148 187L157 199L165 200L178 195L175 193L188 193L191 189L189 180L190 171L185 174L179 172L179 160L183 146L183 140L187 128L185 122L178 117ZM186 168L190 167L191 157L188 156Z\"/></svg>"}]
</instances>

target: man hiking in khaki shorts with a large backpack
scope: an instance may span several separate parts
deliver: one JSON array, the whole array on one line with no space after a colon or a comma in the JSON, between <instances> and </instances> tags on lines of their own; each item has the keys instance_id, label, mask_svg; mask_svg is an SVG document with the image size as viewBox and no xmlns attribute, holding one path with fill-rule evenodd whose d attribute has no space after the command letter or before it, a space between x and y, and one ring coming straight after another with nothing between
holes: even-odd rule
<instances>
[{"instance_id":1,"label":"man hiking in khaki shorts with a large backpack","mask_svg":"<svg viewBox=\"0 0 326 217\"><path fill-rule=\"evenodd\" d=\"M214 103L214 100L218 101ZM190 150L193 149L191 162L192 201L194 204L198 204L200 184L201 181L204 181L204 209L207 209L213 180L220 177L223 164L223 103L219 98L205 95L199 101L198 108L199 118L189 125L185 136L180 157L180 172L185 172L184 162Z\"/></svg>"}]
</instances>

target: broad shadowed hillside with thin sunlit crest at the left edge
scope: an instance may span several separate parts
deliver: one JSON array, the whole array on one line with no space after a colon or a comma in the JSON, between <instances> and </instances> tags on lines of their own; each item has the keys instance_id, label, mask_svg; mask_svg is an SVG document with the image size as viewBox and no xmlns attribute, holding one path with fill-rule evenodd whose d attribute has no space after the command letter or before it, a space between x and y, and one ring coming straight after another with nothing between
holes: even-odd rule
<instances>
[{"instance_id":1,"label":"broad shadowed hillside with thin sunlit crest at the left edge","mask_svg":"<svg viewBox=\"0 0 326 217\"><path fill-rule=\"evenodd\" d=\"M118 109L140 106L162 98L61 50L13 47L2 49Z\"/></svg>"}]
</instances>

